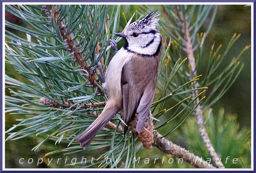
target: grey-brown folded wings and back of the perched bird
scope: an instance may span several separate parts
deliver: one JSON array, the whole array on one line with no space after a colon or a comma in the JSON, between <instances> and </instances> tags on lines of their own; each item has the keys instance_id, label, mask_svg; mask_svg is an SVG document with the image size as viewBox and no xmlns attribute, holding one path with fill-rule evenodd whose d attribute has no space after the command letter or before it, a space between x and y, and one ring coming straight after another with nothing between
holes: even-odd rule
<instances>
[{"instance_id":1,"label":"grey-brown folded wings and back of the perched bird","mask_svg":"<svg viewBox=\"0 0 256 173\"><path fill-rule=\"evenodd\" d=\"M141 132L144 123L149 120L149 112L154 97L154 77L148 75L147 71L139 69L136 60L129 61L123 66L121 75L121 88L123 94L123 119L129 124L132 115L139 115L137 132ZM146 73L146 74L143 74ZM125 132L127 131L125 126Z\"/></svg>"}]
</instances>

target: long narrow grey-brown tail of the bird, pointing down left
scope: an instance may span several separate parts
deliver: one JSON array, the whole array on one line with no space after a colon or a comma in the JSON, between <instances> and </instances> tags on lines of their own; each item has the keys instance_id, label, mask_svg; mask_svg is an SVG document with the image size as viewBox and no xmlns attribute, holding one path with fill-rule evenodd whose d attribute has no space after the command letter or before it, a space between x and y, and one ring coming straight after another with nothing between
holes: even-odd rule
<instances>
[{"instance_id":1,"label":"long narrow grey-brown tail of the bird, pointing down left","mask_svg":"<svg viewBox=\"0 0 256 173\"><path fill-rule=\"evenodd\" d=\"M87 149L92 139L102 130L102 128L116 115L118 109L115 107L105 106L100 116L81 134L79 134L75 141L80 142L83 149Z\"/></svg>"}]
</instances>

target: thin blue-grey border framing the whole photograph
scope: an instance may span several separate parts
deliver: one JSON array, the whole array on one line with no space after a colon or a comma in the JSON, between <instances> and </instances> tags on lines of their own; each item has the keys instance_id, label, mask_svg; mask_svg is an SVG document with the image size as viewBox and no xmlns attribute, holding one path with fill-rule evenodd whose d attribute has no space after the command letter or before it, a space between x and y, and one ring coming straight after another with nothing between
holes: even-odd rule
<instances>
[{"instance_id":1,"label":"thin blue-grey border framing the whole photograph","mask_svg":"<svg viewBox=\"0 0 256 173\"><path fill-rule=\"evenodd\" d=\"M246 3L246 2L254 2L254 5L256 4L256 0L0 0L0 9L2 10L2 5L3 5L3 2L51 2L51 3L53 3L53 2L104 2L104 3L106 3L106 2L141 2L141 3L143 3L143 2L244 2L244 3ZM254 8L254 14L256 14L256 8ZM3 20L3 16L2 16L2 11L1 11L1 13L0 13L0 15L1 15L1 25L2 25L2 20ZM256 23L256 17L254 18L254 23ZM2 26L0 27L1 29L1 33L2 33ZM255 31L255 28L254 28L254 31ZM0 38L1 38L1 41L2 41L2 39L4 39L4 38L2 38L2 34L0 34ZM256 38L256 35L254 35L254 38L253 39L255 39ZM2 44L2 42L1 42L1 44ZM255 50L255 46L254 47L252 47L254 50ZM2 45L1 45L1 49L0 49L0 54L2 55ZM2 57L2 58L4 58L4 57ZM254 57L252 57L252 58L254 58ZM254 61L254 65L255 65L255 63L256 63L256 61ZM1 59L1 61L0 61L0 67L2 67L2 59ZM1 69L2 70L2 69ZM1 71L2 72L2 71ZM0 75L0 78L1 78L1 81L2 81L2 74ZM254 80L255 80L255 77L254 77ZM3 95L2 95L2 87L4 87L4 83L2 83L2 85L1 85L1 92L0 92L0 94L1 94L1 98L3 97ZM253 95L253 97L255 98L255 93L254 93L254 95ZM2 99L1 99L1 105L2 105ZM1 107L1 112L2 112L2 109L4 109L3 107ZM2 115L3 116L3 115ZM254 118L254 124L255 124L255 118ZM2 135L3 135L3 131L2 131L2 118L0 118L0 129L1 129L1 133L0 133L0 138L2 139ZM255 138L255 133L254 133L254 138ZM1 148L3 147L2 146L2 141L0 142L0 146L1 146ZM254 146L255 146L255 143L254 143ZM253 153L254 154L254 153ZM2 153L2 149L0 149L0 160L3 158L3 153ZM255 164L255 160L254 160L254 163L253 163L253 165ZM40 173L46 173L46 172L58 172L58 173L62 173L62 172L65 172L65 173L67 173L67 172L70 172L70 173L72 173L72 172L93 172L93 173L100 173L100 172L102 172L102 171L98 171L98 170L95 170L95 171L92 171L92 170L88 170L88 171L79 171L79 169L76 169L76 170L72 170L72 171L69 171L69 170L60 170L60 171L53 171L53 170L49 170L49 171L47 171L47 170L42 170L42 171L40 171ZM104 172L109 172L109 173L111 173L111 172L121 172L122 170L117 170L117 171L113 171L113 170L110 170L110 171L108 171L108 170L104 170ZM161 169L155 169L155 170L147 170L147 169L145 169L144 171L136 171L136 170L134 170L134 169L132 169L132 170L124 170L125 172L144 172L144 173L148 173L148 172L159 172L159 171L161 171ZM166 170L163 170L163 171L161 171L161 172L172 172L172 173L176 173L176 172L178 172L178 173L187 173L187 172L191 172L192 170L190 170L190 171L172 171L172 170L170 170L170 171L166 171ZM199 170L197 170L197 169L195 169L194 171L199 171ZM194 172L194 171L192 171L192 172ZM13 171L3 171L3 165L2 165L2 162L0 163L0 173L17 173L17 172L23 172L23 173L26 173L26 172L38 172L38 170L37 171L30 171L29 169L24 169L24 171L15 171L15 170L13 170ZM233 172L235 172L235 173L244 173L244 172L247 172L247 173L256 173L256 171L235 171L235 170L228 170L228 171L217 171L217 170L214 170L214 171L204 171L204 170L202 170L202 171L199 171L200 173L206 173L206 172L211 172L211 173L215 173L215 172L220 172L220 173L227 173L227 172L229 172L229 173L233 173Z\"/></svg>"}]
</instances>

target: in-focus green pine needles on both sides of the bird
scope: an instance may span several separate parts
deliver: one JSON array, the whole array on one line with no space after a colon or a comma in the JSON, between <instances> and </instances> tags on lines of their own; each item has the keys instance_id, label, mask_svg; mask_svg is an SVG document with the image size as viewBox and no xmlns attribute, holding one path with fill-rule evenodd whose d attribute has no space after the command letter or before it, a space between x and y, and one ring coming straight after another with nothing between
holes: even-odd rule
<instances>
[{"instance_id":1,"label":"in-focus green pine needles on both sides of the bird","mask_svg":"<svg viewBox=\"0 0 256 173\"><path fill-rule=\"evenodd\" d=\"M203 54L204 40L210 32L217 7L181 5L180 10L192 38L196 68L200 66L202 58L208 61L208 69L203 76L192 77L191 66L186 58L184 32L178 20L179 9L173 5L139 5L138 8L144 14L152 11L152 8L162 13L159 30L165 37L151 118L155 129L172 124L163 134L167 136L183 126L198 104L203 105L204 111L207 111L228 90L243 68L238 59L249 46L220 73L218 70L216 75L216 69L239 35L231 38L223 55L219 54L221 46L215 48L214 44L208 55ZM109 40L121 40L112 34L125 27L125 24L120 24L120 14L123 12L121 6L6 5L5 9L26 23L25 26L19 26L5 21L6 27L18 31L18 34L5 31L5 63L23 77L21 80L5 75L5 87L9 89L5 95L5 112L19 115L18 123L6 131L6 140L44 135L45 138L32 150L40 149L46 140L51 139L55 144L64 143L66 148L52 151L46 156L59 152L83 152L74 138L88 128L103 110L103 107L83 106L107 100L101 87L100 68L104 72L113 56ZM138 18L137 13L135 18ZM209 15L208 29L198 34ZM125 12L123 16L129 19ZM25 33L25 37L22 33ZM201 87L192 87L195 82ZM208 87L212 89L207 91ZM195 91L198 94L192 96ZM42 104L39 102L42 98L58 106ZM196 99L199 102L194 104ZM173 101L169 109L165 108L167 100ZM163 115L168 115L168 119L160 121ZM136 168L132 159L141 151L142 146L131 131L124 135L118 130L119 126L124 126L120 114L112 122L117 128L105 127L87 149L103 149L95 164L88 167ZM106 163L107 157L112 158L111 163Z\"/></svg>"}]
</instances>

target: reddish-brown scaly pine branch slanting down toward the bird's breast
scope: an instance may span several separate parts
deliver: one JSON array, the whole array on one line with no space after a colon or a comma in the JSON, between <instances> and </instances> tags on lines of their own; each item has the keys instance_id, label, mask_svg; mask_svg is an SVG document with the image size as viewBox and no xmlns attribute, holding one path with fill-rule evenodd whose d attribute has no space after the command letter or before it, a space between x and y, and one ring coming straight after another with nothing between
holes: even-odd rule
<instances>
[{"instance_id":1,"label":"reddish-brown scaly pine branch slanting down toward the bird's breast","mask_svg":"<svg viewBox=\"0 0 256 173\"><path fill-rule=\"evenodd\" d=\"M48 11L48 9L47 9L47 5L43 6L43 9L44 9L44 11L46 11L46 15L48 15L49 17L52 17L51 11ZM99 79L93 74L92 70L90 68L88 68L88 63L86 61L84 61L85 58L84 58L83 54L79 50L74 48L74 47L76 47L77 43L75 43L72 36L70 35L72 30L70 30L70 32L67 33L66 25L64 25L64 23L63 23L64 18L62 17L59 19L59 12L55 9L55 5L50 5L50 9L53 10L53 16L57 20L57 25L59 27L62 39L65 42L65 46L64 46L65 50L71 52L71 54L73 56L72 58L74 58L76 60L79 67L88 72L88 81L91 83L91 85L93 87L97 88L101 95L104 95L104 91L102 91L100 89L100 87L98 87L98 85L101 86ZM83 72L81 72L81 73L83 73Z\"/></svg>"}]
</instances>

